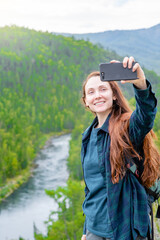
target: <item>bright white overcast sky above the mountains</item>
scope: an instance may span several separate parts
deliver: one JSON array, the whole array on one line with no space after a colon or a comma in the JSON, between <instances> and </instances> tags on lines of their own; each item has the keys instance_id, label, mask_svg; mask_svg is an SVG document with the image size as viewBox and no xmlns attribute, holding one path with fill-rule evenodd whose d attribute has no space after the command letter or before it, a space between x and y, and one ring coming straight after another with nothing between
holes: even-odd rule
<instances>
[{"instance_id":1,"label":"bright white overcast sky above the mountains","mask_svg":"<svg viewBox=\"0 0 160 240\"><path fill-rule=\"evenodd\" d=\"M0 26L88 33L160 23L160 0L0 0Z\"/></svg>"}]
</instances>

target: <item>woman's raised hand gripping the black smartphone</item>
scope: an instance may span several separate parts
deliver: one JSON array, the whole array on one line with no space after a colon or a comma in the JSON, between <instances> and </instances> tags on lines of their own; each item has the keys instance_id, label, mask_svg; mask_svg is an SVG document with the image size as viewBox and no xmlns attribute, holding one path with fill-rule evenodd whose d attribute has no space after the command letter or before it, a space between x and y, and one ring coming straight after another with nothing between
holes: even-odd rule
<instances>
[{"instance_id":1,"label":"woman's raised hand gripping the black smartphone","mask_svg":"<svg viewBox=\"0 0 160 240\"><path fill-rule=\"evenodd\" d=\"M115 61L115 60L111 61L111 63L114 63L114 62L118 62L118 61ZM133 62L135 62L134 57L129 57L129 58L125 57L123 59L123 67L124 68L126 68L126 67L132 68ZM133 83L139 89L146 89L147 88L146 78L145 78L144 72L143 72L141 66L139 65L139 63L136 63L133 66L132 71L133 72L137 71L138 79L135 79L135 80L125 80L125 81L121 80L121 83L122 84Z\"/></svg>"}]
</instances>

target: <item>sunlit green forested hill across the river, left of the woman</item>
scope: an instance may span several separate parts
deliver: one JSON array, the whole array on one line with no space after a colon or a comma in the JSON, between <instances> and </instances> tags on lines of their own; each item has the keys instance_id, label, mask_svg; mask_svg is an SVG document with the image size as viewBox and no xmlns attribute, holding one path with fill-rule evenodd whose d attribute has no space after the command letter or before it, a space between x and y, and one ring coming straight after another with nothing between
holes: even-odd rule
<instances>
[{"instance_id":1,"label":"sunlit green forested hill across the river, left of the woman","mask_svg":"<svg viewBox=\"0 0 160 240\"><path fill-rule=\"evenodd\" d=\"M46 134L74 128L85 75L112 58L84 40L0 28L0 197L28 173Z\"/></svg>"}]
</instances>

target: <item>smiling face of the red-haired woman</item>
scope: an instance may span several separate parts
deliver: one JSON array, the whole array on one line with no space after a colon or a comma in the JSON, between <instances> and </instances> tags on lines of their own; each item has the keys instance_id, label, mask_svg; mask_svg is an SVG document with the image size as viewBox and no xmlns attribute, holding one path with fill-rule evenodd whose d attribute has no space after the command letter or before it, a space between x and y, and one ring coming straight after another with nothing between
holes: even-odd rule
<instances>
[{"instance_id":1,"label":"smiling face of the red-haired woman","mask_svg":"<svg viewBox=\"0 0 160 240\"><path fill-rule=\"evenodd\" d=\"M91 77L85 85L85 103L97 115L108 115L113 106L113 92L108 82L102 82L99 76Z\"/></svg>"}]
</instances>

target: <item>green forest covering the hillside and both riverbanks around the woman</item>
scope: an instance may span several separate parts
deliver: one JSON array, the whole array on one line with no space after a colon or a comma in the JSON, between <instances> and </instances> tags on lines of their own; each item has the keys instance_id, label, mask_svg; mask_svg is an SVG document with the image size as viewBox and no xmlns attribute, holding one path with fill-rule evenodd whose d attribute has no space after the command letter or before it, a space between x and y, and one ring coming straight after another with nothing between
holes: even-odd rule
<instances>
[{"instance_id":1,"label":"green forest covering the hillside and both riverbanks around the woman","mask_svg":"<svg viewBox=\"0 0 160 240\"><path fill-rule=\"evenodd\" d=\"M0 46L0 200L27 181L36 154L50 136L72 132L67 187L46 190L59 205L59 219L49 218L48 235L35 232L35 239L80 239L81 133L93 119L80 102L81 86L88 73L99 70L99 63L123 57L89 41L16 26L0 28ZM160 100L160 76L144 71ZM134 108L132 89L122 90ZM159 106L154 131L160 148Z\"/></svg>"}]
</instances>

